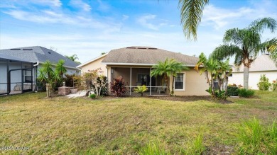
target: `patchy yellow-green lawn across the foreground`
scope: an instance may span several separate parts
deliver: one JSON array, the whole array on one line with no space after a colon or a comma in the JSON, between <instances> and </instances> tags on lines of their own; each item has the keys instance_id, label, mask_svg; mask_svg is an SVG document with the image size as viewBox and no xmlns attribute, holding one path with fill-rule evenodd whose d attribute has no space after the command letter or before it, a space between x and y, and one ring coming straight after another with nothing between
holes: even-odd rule
<instances>
[{"instance_id":1,"label":"patchy yellow-green lawn across the foreground","mask_svg":"<svg viewBox=\"0 0 277 155\"><path fill-rule=\"evenodd\" d=\"M277 118L277 93L255 94L229 98L231 104L44 98L45 93L1 97L0 147L30 149L0 154L139 154L147 148L165 154L189 148L203 154L238 154L237 133L244 120L256 117L268 131L264 133L276 137L272 121Z\"/></svg>"}]
</instances>

